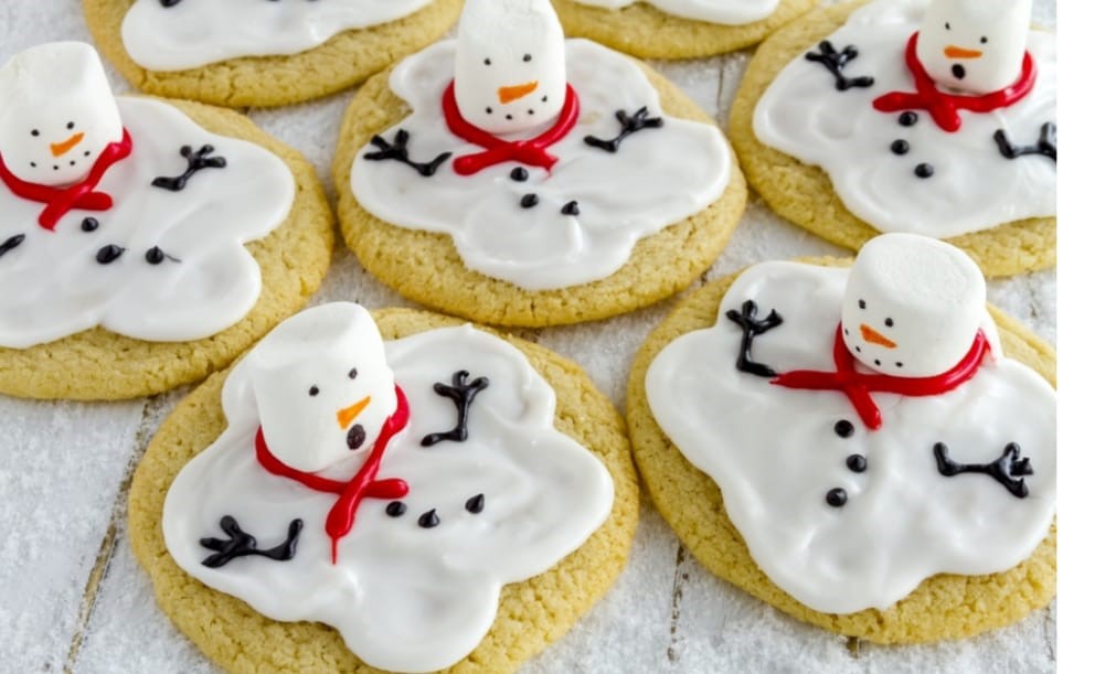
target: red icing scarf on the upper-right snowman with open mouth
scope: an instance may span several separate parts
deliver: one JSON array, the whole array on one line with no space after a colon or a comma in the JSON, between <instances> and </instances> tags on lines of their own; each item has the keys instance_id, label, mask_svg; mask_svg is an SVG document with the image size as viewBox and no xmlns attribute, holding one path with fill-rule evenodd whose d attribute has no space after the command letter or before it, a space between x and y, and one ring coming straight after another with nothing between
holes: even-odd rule
<instances>
[{"instance_id":1,"label":"red icing scarf on the upper-right snowman with open mouth","mask_svg":"<svg viewBox=\"0 0 1116 674\"><path fill-rule=\"evenodd\" d=\"M873 107L882 113L897 113L899 110L929 110L942 131L954 133L961 128L961 115L959 109L972 110L974 113L991 113L992 110L1009 107L1022 99L1035 88L1038 79L1038 70L1035 67L1035 59L1030 52L1023 55L1023 71L1016 80L1016 84L992 92L983 96L955 96L939 90L931 79L926 69L918 60L915 48L918 44L918 32L915 31L907 41L906 62L914 77L916 92L892 92L884 94L872 102Z\"/></svg>"}]
</instances>

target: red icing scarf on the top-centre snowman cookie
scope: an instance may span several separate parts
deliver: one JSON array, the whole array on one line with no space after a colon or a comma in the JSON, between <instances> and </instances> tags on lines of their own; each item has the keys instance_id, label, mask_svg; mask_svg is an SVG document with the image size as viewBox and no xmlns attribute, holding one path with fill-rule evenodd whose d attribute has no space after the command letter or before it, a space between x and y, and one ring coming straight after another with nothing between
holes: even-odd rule
<instances>
[{"instance_id":1,"label":"red icing scarf on the top-centre snowman cookie","mask_svg":"<svg viewBox=\"0 0 1116 674\"><path fill-rule=\"evenodd\" d=\"M483 152L453 160L453 170L459 175L472 175L504 162L519 162L550 171L558 163L558 157L549 154L547 148L565 138L574 129L577 118L581 114L581 104L577 92L567 84L566 105L558 114L558 121L542 134L526 141L503 141L466 122L458 108L458 99L453 95L453 81L442 95L442 112L445 115L445 124L453 132L453 135L484 148Z\"/></svg>"}]
</instances>

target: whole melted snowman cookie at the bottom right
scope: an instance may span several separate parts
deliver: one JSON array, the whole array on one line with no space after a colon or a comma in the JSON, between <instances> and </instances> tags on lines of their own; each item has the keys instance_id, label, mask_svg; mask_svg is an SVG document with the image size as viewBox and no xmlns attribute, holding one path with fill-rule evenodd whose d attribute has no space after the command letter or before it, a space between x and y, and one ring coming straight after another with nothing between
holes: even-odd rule
<instances>
[{"instance_id":1,"label":"whole melted snowman cookie at the bottom right","mask_svg":"<svg viewBox=\"0 0 1116 674\"><path fill-rule=\"evenodd\" d=\"M843 634L959 638L1054 596L1054 369L962 251L884 234L852 268L766 262L687 298L628 424L714 574Z\"/></svg>"}]
</instances>

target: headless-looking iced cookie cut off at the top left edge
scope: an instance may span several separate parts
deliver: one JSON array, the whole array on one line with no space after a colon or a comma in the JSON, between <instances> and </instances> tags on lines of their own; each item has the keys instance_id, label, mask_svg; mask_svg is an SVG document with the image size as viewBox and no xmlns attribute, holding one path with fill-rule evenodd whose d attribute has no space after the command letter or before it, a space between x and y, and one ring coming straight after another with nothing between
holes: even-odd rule
<instances>
[{"instance_id":1,"label":"headless-looking iced cookie cut off at the top left edge","mask_svg":"<svg viewBox=\"0 0 1116 674\"><path fill-rule=\"evenodd\" d=\"M148 94L279 106L364 81L449 30L462 0L83 0L97 46Z\"/></svg>"}]
</instances>

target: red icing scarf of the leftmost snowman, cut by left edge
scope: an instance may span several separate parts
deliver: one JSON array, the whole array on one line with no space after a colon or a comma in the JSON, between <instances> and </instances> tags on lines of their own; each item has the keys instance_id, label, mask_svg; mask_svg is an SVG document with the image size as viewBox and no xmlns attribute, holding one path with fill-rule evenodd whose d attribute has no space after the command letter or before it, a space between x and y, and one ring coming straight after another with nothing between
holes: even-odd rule
<instances>
[{"instance_id":1,"label":"red icing scarf of the leftmost snowman, cut by left edge","mask_svg":"<svg viewBox=\"0 0 1116 674\"><path fill-rule=\"evenodd\" d=\"M124 137L119 143L112 143L97 161L93 164L89 175L79 183L68 187L51 187L38 183L29 183L16 177L0 156L0 180L8 185L12 194L28 201L37 201L47 204L47 208L39 213L39 227L45 230L55 231L58 221L62 215L74 209L86 211L107 211L113 208L113 198L104 192L95 192L97 183L105 177L105 173L112 168L113 164L132 154L132 136L128 129L124 129Z\"/></svg>"}]
</instances>

